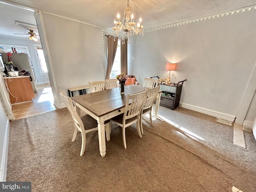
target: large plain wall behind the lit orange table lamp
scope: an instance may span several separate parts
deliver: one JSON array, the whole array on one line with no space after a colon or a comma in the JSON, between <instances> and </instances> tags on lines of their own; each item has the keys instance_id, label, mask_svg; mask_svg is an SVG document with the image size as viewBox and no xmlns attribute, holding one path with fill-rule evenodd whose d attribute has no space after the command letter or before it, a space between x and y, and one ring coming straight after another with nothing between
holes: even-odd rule
<instances>
[{"instance_id":1,"label":"large plain wall behind the lit orange table lamp","mask_svg":"<svg viewBox=\"0 0 256 192\"><path fill-rule=\"evenodd\" d=\"M129 73L140 83L167 78L166 62L176 62L176 82L187 79L181 102L235 117L256 64L255 16L240 12L147 32L128 46Z\"/></svg>"}]
</instances>

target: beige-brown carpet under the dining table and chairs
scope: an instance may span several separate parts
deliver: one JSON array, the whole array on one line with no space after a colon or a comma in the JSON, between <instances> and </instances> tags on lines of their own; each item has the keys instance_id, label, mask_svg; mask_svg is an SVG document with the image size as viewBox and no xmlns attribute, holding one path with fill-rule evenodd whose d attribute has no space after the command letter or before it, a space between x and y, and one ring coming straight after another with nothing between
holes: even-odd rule
<instances>
[{"instance_id":1,"label":"beige-brown carpet under the dining table and chairs","mask_svg":"<svg viewBox=\"0 0 256 192\"><path fill-rule=\"evenodd\" d=\"M100 156L98 133L71 142L73 122L66 108L10 123L7 181L31 181L33 192L173 191L244 192L256 189L256 142L245 132L246 146L233 144L233 128L214 117L183 108L160 106L144 135L136 126L113 125L107 154ZM175 123L175 126L169 122ZM169 123L168 123L169 122Z\"/></svg>"}]
</instances>

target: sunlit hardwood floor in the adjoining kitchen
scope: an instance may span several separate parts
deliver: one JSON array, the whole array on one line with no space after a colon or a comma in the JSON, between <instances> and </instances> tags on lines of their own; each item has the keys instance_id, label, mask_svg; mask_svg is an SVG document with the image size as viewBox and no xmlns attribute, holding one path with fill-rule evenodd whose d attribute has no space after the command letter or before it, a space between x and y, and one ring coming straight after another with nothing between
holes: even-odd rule
<instances>
[{"instance_id":1,"label":"sunlit hardwood floor in the adjoining kitchen","mask_svg":"<svg viewBox=\"0 0 256 192\"><path fill-rule=\"evenodd\" d=\"M54 106L53 101L54 99L50 84L38 85L33 102L12 105L12 113L17 120L53 111L57 109Z\"/></svg>"}]
</instances>

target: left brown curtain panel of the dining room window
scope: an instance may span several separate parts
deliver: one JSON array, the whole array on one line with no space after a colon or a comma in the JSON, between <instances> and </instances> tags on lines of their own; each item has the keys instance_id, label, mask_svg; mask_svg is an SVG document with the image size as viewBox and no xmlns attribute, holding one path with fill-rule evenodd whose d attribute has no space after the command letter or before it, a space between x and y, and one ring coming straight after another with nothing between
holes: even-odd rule
<instances>
[{"instance_id":1,"label":"left brown curtain panel of the dining room window","mask_svg":"<svg viewBox=\"0 0 256 192\"><path fill-rule=\"evenodd\" d=\"M108 35L107 38L108 38L108 63L107 63L106 79L109 79L112 66L114 64L115 56L116 56L118 38L115 38L114 36L110 36L110 35Z\"/></svg>"}]
</instances>

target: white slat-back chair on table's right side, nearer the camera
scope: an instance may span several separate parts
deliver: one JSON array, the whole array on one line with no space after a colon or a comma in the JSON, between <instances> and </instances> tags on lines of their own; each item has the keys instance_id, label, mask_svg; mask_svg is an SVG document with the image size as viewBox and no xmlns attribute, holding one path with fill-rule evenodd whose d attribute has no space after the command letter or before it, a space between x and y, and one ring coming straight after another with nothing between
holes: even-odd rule
<instances>
[{"instance_id":1,"label":"white slat-back chair on table's right side, nearer the camera","mask_svg":"<svg viewBox=\"0 0 256 192\"><path fill-rule=\"evenodd\" d=\"M142 106L146 100L146 91L140 92L133 95L127 95L126 97L126 105L124 109L124 114L120 114L114 118L111 118L110 121L122 127L123 132L123 142L124 148L126 149L126 137L125 137L125 128L136 123L137 131L142 138L140 132L140 112L142 110ZM131 102L130 102L131 100Z\"/></svg>"}]
</instances>

